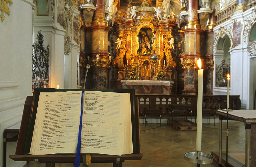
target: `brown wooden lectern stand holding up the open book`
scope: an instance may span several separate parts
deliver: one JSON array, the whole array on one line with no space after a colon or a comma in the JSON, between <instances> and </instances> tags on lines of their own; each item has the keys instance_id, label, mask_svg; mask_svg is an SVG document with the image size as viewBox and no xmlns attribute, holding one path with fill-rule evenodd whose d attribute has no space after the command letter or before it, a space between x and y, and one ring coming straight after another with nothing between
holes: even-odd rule
<instances>
[{"instance_id":1,"label":"brown wooden lectern stand holding up the open book","mask_svg":"<svg viewBox=\"0 0 256 167\"><path fill-rule=\"evenodd\" d=\"M17 147L15 155L10 155L9 158L13 159L14 161L37 161L40 163L46 163L48 167L54 167L55 163L73 163L75 161L75 154L48 154L48 155L25 155L24 148L25 148L25 141L27 136L27 129L28 129L28 120L31 112L32 107L32 98L28 96L26 98L26 102L24 105L22 122L20 125L20 131L17 141ZM134 124L136 125L135 133L136 139L133 140L135 142L136 153L133 154L125 154L121 156L113 156L113 155L106 155L106 154L91 154L91 161L92 163L106 163L111 162L113 166L122 166L122 162L125 160L141 160L142 154L140 153L140 128L139 128L139 111L138 111L138 99L135 97L134 103L135 113L134 113ZM86 156L86 154L84 154ZM83 158L81 158L80 162L82 163Z\"/></svg>"}]
</instances>

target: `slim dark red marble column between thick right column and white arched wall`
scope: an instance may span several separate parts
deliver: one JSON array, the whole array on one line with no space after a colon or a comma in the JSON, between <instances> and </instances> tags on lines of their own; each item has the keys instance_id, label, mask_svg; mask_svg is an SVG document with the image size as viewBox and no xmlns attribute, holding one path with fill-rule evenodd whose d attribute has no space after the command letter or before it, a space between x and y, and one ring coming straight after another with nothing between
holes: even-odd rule
<instances>
[{"instance_id":1,"label":"slim dark red marble column between thick right column and white arched wall","mask_svg":"<svg viewBox=\"0 0 256 167\"><path fill-rule=\"evenodd\" d=\"M205 30L206 34L206 55L205 55L205 66L206 70L204 71L205 80L204 80L204 92L206 94L212 94L212 85L213 85L213 70L214 70L214 60L213 60L213 28L216 27L217 17L215 16L215 11L210 14L209 24Z\"/></svg>"}]
</instances>

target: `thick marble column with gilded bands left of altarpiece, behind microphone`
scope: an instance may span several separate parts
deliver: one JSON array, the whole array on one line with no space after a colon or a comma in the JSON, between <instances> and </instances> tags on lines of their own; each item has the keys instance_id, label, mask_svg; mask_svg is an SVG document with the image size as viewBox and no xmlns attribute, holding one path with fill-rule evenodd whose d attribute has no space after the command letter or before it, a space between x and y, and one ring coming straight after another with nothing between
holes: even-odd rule
<instances>
[{"instance_id":1,"label":"thick marble column with gilded bands left of altarpiece, behind microphone","mask_svg":"<svg viewBox=\"0 0 256 167\"><path fill-rule=\"evenodd\" d=\"M89 32L91 32L91 53L89 54L91 89L108 89L108 71L111 61L108 52L110 27L107 26L105 19L104 0L95 0L94 5L97 9L94 11L92 26L89 27Z\"/></svg>"}]
</instances>

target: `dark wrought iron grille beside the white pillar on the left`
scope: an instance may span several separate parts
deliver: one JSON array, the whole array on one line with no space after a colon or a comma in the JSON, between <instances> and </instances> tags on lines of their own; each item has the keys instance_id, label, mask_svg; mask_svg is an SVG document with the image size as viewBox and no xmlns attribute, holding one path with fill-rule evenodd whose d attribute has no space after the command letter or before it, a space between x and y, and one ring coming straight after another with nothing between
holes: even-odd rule
<instances>
[{"instance_id":1,"label":"dark wrought iron grille beside the white pillar on the left","mask_svg":"<svg viewBox=\"0 0 256 167\"><path fill-rule=\"evenodd\" d=\"M45 49L43 38L38 31L37 42L32 45L32 92L34 88L49 87L49 45Z\"/></svg>"}]
</instances>

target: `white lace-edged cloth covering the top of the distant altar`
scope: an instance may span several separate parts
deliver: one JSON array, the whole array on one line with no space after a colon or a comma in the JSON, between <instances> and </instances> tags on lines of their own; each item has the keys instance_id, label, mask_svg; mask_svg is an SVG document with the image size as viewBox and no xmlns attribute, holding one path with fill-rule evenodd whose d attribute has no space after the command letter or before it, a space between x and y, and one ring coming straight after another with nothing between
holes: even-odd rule
<instances>
[{"instance_id":1,"label":"white lace-edged cloth covering the top of the distant altar","mask_svg":"<svg viewBox=\"0 0 256 167\"><path fill-rule=\"evenodd\" d=\"M122 84L126 85L159 85L170 86L174 81L152 81L152 80L121 80Z\"/></svg>"}]
</instances>

